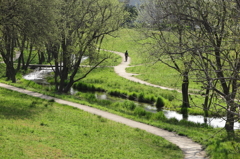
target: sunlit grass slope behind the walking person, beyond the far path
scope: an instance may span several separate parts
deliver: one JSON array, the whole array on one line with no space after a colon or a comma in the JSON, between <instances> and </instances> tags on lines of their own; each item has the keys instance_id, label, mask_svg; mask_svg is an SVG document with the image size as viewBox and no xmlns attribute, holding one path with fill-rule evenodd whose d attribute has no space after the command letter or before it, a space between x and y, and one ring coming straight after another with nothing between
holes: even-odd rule
<instances>
[{"instance_id":1,"label":"sunlit grass slope behind the walking person, beyond the far path","mask_svg":"<svg viewBox=\"0 0 240 159\"><path fill-rule=\"evenodd\" d=\"M146 48L143 45L144 40L139 35L140 32L122 29L115 34L114 37L106 37L103 48L120 52L128 50L129 56L132 58L131 65L138 65L128 68L129 72L139 73L138 78L153 84L181 89L181 76L176 70L170 69L160 62L155 63L153 59L150 60L149 55L145 52ZM190 87L192 89L200 88L193 82L190 83Z\"/></svg>"}]
</instances>

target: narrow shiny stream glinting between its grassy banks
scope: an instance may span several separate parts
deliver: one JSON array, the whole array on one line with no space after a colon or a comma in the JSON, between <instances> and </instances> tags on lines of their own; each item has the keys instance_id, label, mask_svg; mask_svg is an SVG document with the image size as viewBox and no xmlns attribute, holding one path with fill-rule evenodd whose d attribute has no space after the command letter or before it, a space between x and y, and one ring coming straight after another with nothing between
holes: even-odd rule
<instances>
[{"instance_id":1,"label":"narrow shiny stream glinting between its grassy banks","mask_svg":"<svg viewBox=\"0 0 240 159\"><path fill-rule=\"evenodd\" d=\"M34 81L36 83L41 83L41 84L48 84L47 81L45 80L45 78L52 72L52 68L45 68L43 70L39 70L39 69L35 69L33 72L29 73L28 75L23 76L24 79L26 80L31 80ZM76 90L71 89L70 90L71 94L75 94L77 93ZM97 99L100 100L111 100L111 101L124 101L124 99L121 98L116 98L116 97L111 97L110 95L106 94L106 93L96 93L95 97ZM151 105L148 104L144 104L144 103L139 103L141 105L144 105L145 110L152 112L152 113L156 113L157 109L156 107L153 107ZM175 111L170 111L170 110L163 110L165 116L170 119L170 118L176 118L177 120L182 120L182 114L179 114ZM188 121L192 121L194 123L204 123L204 117L202 115L189 115L188 116ZM223 128L225 126L225 120L224 118L207 118L207 124L212 126L212 127L219 127L219 128ZM234 129L240 129L240 123L236 122L234 124Z\"/></svg>"}]
</instances>

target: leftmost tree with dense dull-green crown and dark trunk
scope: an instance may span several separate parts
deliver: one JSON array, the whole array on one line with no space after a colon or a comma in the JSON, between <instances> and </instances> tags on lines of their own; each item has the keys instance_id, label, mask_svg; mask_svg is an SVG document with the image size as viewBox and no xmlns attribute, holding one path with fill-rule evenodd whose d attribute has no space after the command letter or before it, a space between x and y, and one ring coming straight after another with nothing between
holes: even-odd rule
<instances>
[{"instance_id":1,"label":"leftmost tree with dense dull-green crown and dark trunk","mask_svg":"<svg viewBox=\"0 0 240 159\"><path fill-rule=\"evenodd\" d=\"M27 64L33 47L40 44L51 31L51 13L55 1L4 0L0 3L0 54L6 64L7 80L16 82L16 73L24 67L23 52L29 49ZM51 8L51 9L50 9ZM19 47L18 68L14 66L16 47ZM24 67L26 69L26 67Z\"/></svg>"}]
</instances>

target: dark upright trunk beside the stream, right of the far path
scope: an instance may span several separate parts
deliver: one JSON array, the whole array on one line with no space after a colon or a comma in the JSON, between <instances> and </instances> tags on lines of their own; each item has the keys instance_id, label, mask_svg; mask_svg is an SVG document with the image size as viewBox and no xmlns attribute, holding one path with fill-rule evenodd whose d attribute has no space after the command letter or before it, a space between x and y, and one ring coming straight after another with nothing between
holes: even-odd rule
<instances>
[{"instance_id":1,"label":"dark upright trunk beside the stream, right of the far path","mask_svg":"<svg viewBox=\"0 0 240 159\"><path fill-rule=\"evenodd\" d=\"M188 97L188 87L189 87L189 78L188 78L189 72L183 73L183 83L182 83L182 109L181 113L183 115L183 118L186 119L188 117L188 108L190 107L189 104L189 97Z\"/></svg>"}]
</instances>

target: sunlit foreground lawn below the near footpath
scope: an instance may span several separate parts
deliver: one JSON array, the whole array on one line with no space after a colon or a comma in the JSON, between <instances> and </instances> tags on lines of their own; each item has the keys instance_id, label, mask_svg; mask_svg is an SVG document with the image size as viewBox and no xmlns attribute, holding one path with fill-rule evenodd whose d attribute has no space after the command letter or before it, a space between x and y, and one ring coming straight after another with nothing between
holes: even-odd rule
<instances>
[{"instance_id":1,"label":"sunlit foreground lawn below the near footpath","mask_svg":"<svg viewBox=\"0 0 240 159\"><path fill-rule=\"evenodd\" d=\"M0 158L183 157L161 137L69 106L2 88L0 100Z\"/></svg>"}]
</instances>

